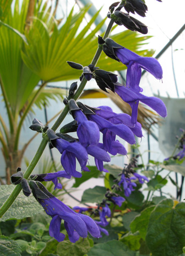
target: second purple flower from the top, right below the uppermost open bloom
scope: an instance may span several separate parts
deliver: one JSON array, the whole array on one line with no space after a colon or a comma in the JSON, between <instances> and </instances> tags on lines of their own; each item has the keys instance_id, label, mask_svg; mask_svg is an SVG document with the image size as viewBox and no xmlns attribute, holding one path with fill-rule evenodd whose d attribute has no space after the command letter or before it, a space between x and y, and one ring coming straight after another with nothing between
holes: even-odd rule
<instances>
[{"instance_id":1,"label":"second purple flower from the top, right below the uppermost open bloom","mask_svg":"<svg viewBox=\"0 0 185 256\"><path fill-rule=\"evenodd\" d=\"M131 122L133 124L137 123L139 101L153 108L161 117L167 116L166 106L160 98L144 96L142 93L133 91L131 88L125 87L118 82L115 83L115 92L123 101L129 103L132 108Z\"/></svg>"}]
</instances>

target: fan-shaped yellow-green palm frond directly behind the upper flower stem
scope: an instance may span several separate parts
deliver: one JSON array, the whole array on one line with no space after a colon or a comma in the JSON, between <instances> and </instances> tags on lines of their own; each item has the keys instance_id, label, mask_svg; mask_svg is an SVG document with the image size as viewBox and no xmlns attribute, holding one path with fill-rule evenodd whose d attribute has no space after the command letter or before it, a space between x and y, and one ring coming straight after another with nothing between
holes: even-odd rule
<instances>
[{"instance_id":1,"label":"fan-shaped yellow-green palm frond directly behind the upper flower stem","mask_svg":"<svg viewBox=\"0 0 185 256\"><path fill-rule=\"evenodd\" d=\"M91 63L97 49L96 33L104 25L105 19L90 32L91 25L100 11L97 12L79 33L79 26L88 8L86 7L80 12L73 26L71 25L73 19L72 9L62 28L58 29L57 24L53 24L54 27L51 33L51 30L46 26L39 29L39 26L34 25L32 32L26 35L29 44L25 45L21 56L25 64L42 80L65 81L77 79L81 75L81 71L71 69L66 63L67 60L79 62L83 66ZM139 51L139 46L145 44L145 40L149 39L148 36L139 36L135 32L126 30L113 35L112 39L130 50L139 52L141 55L152 55L147 50ZM101 69L109 71L126 68L119 62L108 59L105 54L101 55L98 65L101 66Z\"/></svg>"}]
</instances>

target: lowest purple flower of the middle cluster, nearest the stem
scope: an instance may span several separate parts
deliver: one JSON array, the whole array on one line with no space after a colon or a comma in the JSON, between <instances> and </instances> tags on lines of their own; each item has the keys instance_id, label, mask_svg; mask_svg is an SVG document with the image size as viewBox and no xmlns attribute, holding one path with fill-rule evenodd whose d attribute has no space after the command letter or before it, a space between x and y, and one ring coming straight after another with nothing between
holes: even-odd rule
<instances>
[{"instance_id":1,"label":"lowest purple flower of the middle cluster, nearest the stem","mask_svg":"<svg viewBox=\"0 0 185 256\"><path fill-rule=\"evenodd\" d=\"M85 168L88 161L86 149L78 142L67 142L62 138L52 139L52 145L62 154L61 164L66 173L74 177L81 177L81 173L76 170L76 158L81 168Z\"/></svg>"}]
</instances>

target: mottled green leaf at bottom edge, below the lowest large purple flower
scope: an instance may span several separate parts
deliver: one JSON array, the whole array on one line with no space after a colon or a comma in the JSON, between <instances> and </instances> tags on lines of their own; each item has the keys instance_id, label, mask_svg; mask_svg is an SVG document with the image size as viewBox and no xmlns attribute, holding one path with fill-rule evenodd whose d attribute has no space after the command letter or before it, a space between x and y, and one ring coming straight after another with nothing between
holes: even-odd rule
<instances>
[{"instance_id":1,"label":"mottled green leaf at bottom edge, below the lowest large purple flower","mask_svg":"<svg viewBox=\"0 0 185 256\"><path fill-rule=\"evenodd\" d=\"M70 241L63 241L57 245L57 254L59 256L83 256L89 252L90 248L91 247L88 239L80 238L75 243L71 243Z\"/></svg>"}]
</instances>

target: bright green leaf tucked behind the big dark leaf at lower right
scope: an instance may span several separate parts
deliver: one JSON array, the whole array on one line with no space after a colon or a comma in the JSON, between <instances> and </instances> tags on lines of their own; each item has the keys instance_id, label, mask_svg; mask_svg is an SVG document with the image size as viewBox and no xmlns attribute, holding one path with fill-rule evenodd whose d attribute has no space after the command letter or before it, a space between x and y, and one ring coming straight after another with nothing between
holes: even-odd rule
<instances>
[{"instance_id":1,"label":"bright green leaf tucked behind the big dark leaf at lower right","mask_svg":"<svg viewBox=\"0 0 185 256\"><path fill-rule=\"evenodd\" d=\"M145 240L150 214L154 208L155 206L145 208L145 210L143 210L140 215L135 217L135 219L130 223L130 229L132 233L139 231L139 234L143 240Z\"/></svg>"}]
</instances>

